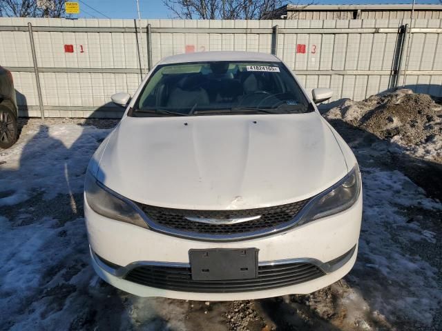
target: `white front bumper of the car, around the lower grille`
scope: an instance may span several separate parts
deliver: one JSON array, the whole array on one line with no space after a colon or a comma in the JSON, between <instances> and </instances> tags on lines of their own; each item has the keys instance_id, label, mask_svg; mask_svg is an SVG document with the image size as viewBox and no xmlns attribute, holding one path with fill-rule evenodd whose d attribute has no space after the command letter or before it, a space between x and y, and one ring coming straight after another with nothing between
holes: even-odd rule
<instances>
[{"instance_id":1,"label":"white front bumper of the car, around the lower grille","mask_svg":"<svg viewBox=\"0 0 442 331\"><path fill-rule=\"evenodd\" d=\"M318 219L273 234L267 237L244 241L209 242L171 237L102 217L84 202L86 227L92 254L93 267L102 279L115 287L140 297L169 297L191 300L242 300L275 297L285 294L314 292L341 279L356 261L357 243L361 229L362 194L358 201L344 212ZM269 290L252 292L204 293L164 290L140 285L124 279L124 269L118 266L131 266L134 263L176 263L189 264L190 249L210 248L258 248L259 262L279 260L313 261L322 266L325 272L321 277L296 285L287 285ZM332 263L338 257L351 252L343 263L327 269L327 261ZM115 264L115 268L100 263L99 257ZM333 264L333 263L332 263ZM327 269L327 270L325 270Z\"/></svg>"}]
</instances>

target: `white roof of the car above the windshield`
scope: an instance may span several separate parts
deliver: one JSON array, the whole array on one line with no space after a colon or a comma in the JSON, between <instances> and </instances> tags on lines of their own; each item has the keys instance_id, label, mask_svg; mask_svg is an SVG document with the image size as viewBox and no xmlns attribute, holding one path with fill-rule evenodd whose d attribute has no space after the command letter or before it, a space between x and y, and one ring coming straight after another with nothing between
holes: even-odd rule
<instances>
[{"instance_id":1,"label":"white roof of the car above the windshield","mask_svg":"<svg viewBox=\"0 0 442 331\"><path fill-rule=\"evenodd\" d=\"M273 54L259 52L229 52L229 51L213 51L213 52L194 52L186 54L172 55L166 57L158 64L171 63L189 63L204 61L272 61L280 62Z\"/></svg>"}]
</instances>

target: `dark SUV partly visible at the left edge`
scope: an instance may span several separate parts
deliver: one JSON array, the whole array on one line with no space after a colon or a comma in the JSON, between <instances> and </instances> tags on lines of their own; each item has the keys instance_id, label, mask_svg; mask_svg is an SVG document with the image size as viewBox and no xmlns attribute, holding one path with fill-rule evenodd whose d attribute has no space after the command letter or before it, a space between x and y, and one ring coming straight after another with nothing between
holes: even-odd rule
<instances>
[{"instance_id":1,"label":"dark SUV partly visible at the left edge","mask_svg":"<svg viewBox=\"0 0 442 331\"><path fill-rule=\"evenodd\" d=\"M0 66L0 148L10 148L17 141L18 115L12 74Z\"/></svg>"}]
</instances>

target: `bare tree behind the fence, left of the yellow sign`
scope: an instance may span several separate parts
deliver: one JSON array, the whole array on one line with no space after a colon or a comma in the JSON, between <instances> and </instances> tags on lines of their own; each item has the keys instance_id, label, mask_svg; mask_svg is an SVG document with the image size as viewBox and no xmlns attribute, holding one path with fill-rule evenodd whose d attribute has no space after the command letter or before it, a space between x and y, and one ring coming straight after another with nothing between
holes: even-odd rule
<instances>
[{"instance_id":1,"label":"bare tree behind the fence, left of the yellow sign","mask_svg":"<svg viewBox=\"0 0 442 331\"><path fill-rule=\"evenodd\" d=\"M64 17L65 0L0 0L0 16Z\"/></svg>"}]
</instances>

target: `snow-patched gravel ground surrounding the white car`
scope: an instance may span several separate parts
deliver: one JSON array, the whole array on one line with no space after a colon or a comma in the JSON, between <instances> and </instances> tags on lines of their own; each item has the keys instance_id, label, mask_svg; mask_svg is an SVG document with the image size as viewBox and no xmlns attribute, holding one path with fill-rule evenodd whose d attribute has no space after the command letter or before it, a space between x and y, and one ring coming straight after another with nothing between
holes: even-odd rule
<instances>
[{"instance_id":1,"label":"snow-patched gravel ground surrounding the white car","mask_svg":"<svg viewBox=\"0 0 442 331\"><path fill-rule=\"evenodd\" d=\"M389 97L421 103L416 94ZM349 101L325 114L363 173L352 272L311 294L254 301L146 299L101 281L88 264L81 185L87 160L117 121L21 119L17 145L0 150L0 330L442 330L440 160L381 132L396 117L408 123L389 102L366 101L376 106L351 121L342 115L345 107L351 113ZM376 107L379 114L370 112ZM394 109L393 119L385 109Z\"/></svg>"}]
</instances>

